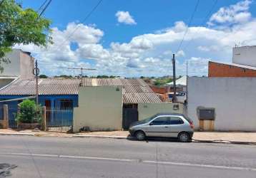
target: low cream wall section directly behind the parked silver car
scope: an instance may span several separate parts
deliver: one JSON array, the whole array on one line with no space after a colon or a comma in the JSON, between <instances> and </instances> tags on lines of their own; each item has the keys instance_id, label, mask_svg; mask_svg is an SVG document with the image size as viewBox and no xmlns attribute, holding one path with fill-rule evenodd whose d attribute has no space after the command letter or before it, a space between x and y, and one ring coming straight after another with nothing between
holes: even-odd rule
<instances>
[{"instance_id":1,"label":"low cream wall section directly behind the parked silver car","mask_svg":"<svg viewBox=\"0 0 256 178\"><path fill-rule=\"evenodd\" d=\"M178 109L175 109L176 108ZM146 119L161 112L172 112L183 114L183 104L178 103L139 103L139 120Z\"/></svg>"}]
</instances>

